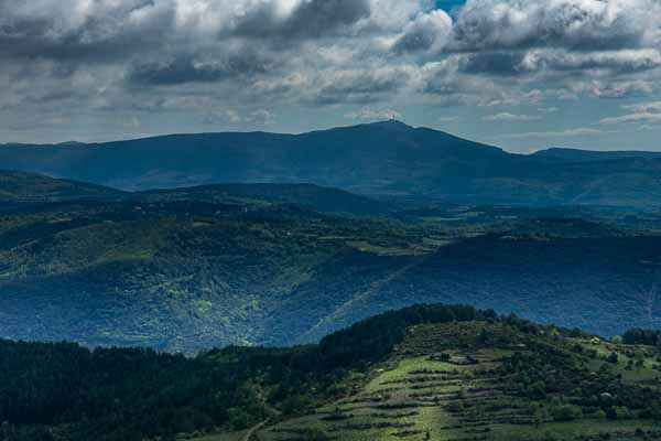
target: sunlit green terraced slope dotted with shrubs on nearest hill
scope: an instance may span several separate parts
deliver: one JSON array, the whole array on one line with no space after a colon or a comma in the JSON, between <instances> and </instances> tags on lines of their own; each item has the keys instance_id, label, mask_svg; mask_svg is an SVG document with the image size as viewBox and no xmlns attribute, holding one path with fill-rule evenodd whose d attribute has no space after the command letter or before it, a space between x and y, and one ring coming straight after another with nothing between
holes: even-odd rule
<instances>
[{"instance_id":1,"label":"sunlit green terraced slope dotted with shrubs on nearest hill","mask_svg":"<svg viewBox=\"0 0 661 441\"><path fill-rule=\"evenodd\" d=\"M650 347L517 333L501 323L421 325L348 396L251 439L661 440L644 408L624 406L626 394L661 392L659 357ZM546 384L534 386L535 372Z\"/></svg>"}]
</instances>

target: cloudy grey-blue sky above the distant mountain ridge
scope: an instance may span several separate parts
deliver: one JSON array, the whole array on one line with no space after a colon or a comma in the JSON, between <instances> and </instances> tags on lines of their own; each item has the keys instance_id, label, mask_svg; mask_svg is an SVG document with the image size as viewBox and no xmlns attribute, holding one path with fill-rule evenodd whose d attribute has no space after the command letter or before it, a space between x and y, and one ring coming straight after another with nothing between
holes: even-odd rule
<instances>
[{"instance_id":1,"label":"cloudy grey-blue sky above the distant mountain ridge","mask_svg":"<svg viewBox=\"0 0 661 441\"><path fill-rule=\"evenodd\" d=\"M383 119L661 150L661 0L0 0L0 142Z\"/></svg>"}]
</instances>

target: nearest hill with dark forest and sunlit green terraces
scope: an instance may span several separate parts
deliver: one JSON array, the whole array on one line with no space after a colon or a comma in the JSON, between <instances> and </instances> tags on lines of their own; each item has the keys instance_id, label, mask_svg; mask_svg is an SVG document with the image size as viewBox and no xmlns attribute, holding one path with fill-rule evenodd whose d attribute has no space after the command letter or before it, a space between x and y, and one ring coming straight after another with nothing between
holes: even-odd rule
<instances>
[{"instance_id":1,"label":"nearest hill with dark forest and sunlit green terraces","mask_svg":"<svg viewBox=\"0 0 661 441\"><path fill-rule=\"evenodd\" d=\"M426 304L189 358L0 341L0 439L661 440L660 337Z\"/></svg>"}]
</instances>

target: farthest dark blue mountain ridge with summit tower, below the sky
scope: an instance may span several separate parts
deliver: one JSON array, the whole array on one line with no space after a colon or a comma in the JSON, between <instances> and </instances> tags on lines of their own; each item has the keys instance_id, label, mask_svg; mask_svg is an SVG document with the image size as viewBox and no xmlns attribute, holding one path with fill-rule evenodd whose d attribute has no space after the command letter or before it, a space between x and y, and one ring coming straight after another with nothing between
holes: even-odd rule
<instances>
[{"instance_id":1,"label":"farthest dark blue mountain ridge with summit tower, below the sky","mask_svg":"<svg viewBox=\"0 0 661 441\"><path fill-rule=\"evenodd\" d=\"M380 198L472 204L661 204L661 158L654 154L511 154L398 121L302 135L228 132L4 146L0 162L122 190L313 183Z\"/></svg>"}]
</instances>

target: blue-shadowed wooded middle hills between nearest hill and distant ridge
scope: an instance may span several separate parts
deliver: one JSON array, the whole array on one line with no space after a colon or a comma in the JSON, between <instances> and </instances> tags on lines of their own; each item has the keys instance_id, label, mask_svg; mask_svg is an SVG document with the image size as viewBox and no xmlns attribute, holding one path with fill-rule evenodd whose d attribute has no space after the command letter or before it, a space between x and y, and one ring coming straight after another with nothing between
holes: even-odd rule
<instances>
[{"instance_id":1,"label":"blue-shadowed wooded middle hills between nearest hill and distant ridge","mask_svg":"<svg viewBox=\"0 0 661 441\"><path fill-rule=\"evenodd\" d=\"M192 354L313 343L420 302L604 335L661 326L653 212L399 212L314 185L108 192L3 205L0 337Z\"/></svg>"}]
</instances>

